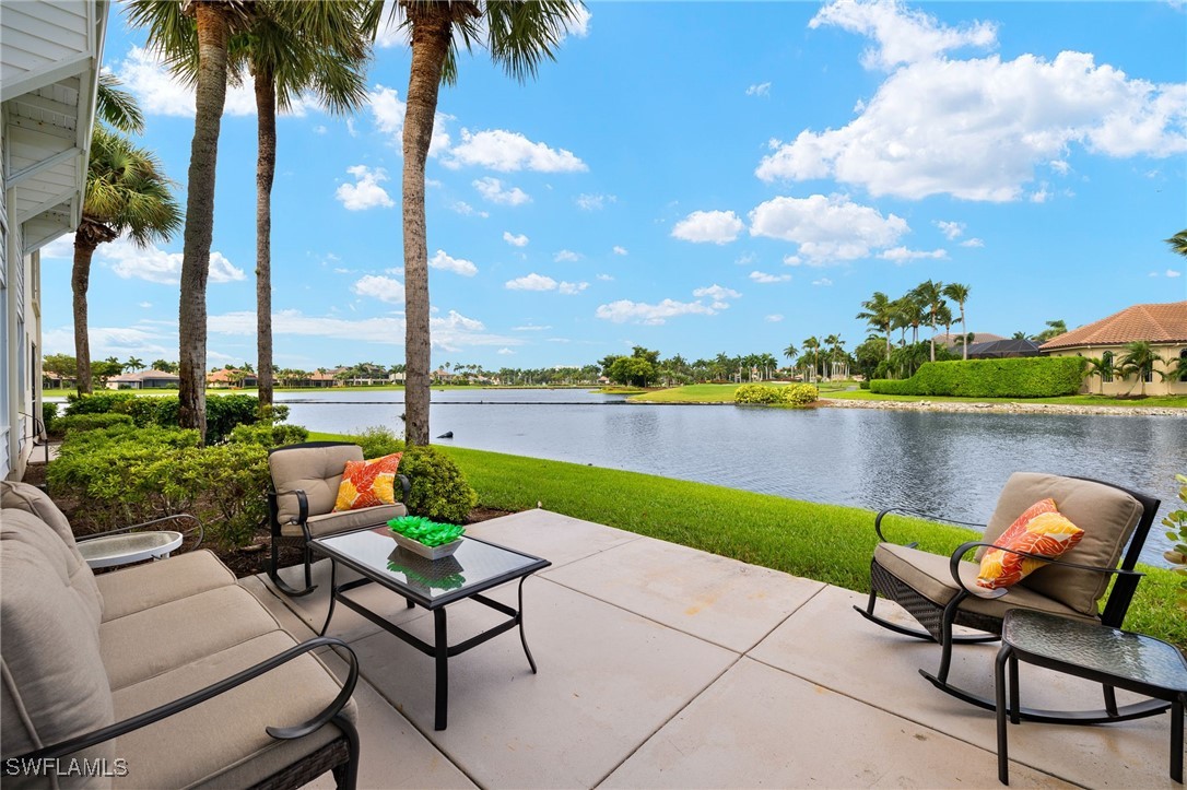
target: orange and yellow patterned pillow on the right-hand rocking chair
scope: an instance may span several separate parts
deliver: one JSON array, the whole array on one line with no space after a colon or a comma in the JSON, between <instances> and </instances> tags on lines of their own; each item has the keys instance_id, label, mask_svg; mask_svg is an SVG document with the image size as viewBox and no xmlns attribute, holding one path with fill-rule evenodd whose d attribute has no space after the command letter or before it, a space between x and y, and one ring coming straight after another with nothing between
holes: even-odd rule
<instances>
[{"instance_id":1,"label":"orange and yellow patterned pillow on the right-hand rocking chair","mask_svg":"<svg viewBox=\"0 0 1187 790\"><path fill-rule=\"evenodd\" d=\"M1041 554L1054 560L1072 549L1081 537L1084 530L1059 512L1054 499L1041 499L1027 508L994 542L1004 548ZM989 590L1009 587L1045 565L1047 563L1042 560L1014 552L989 549L980 559L977 585Z\"/></svg>"}]
</instances>

